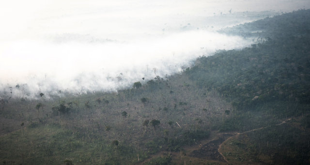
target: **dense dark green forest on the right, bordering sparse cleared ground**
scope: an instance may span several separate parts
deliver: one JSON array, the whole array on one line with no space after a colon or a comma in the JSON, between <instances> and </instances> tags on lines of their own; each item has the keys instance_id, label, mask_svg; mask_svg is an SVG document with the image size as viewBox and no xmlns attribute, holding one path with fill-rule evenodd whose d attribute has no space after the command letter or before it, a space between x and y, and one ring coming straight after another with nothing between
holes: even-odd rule
<instances>
[{"instance_id":1,"label":"dense dark green forest on the right, bordering sparse cleared ground","mask_svg":"<svg viewBox=\"0 0 310 165\"><path fill-rule=\"evenodd\" d=\"M260 33L250 33L252 31ZM225 30L265 37L241 50L221 50L186 69L200 87L215 89L237 111L266 111L281 118L309 112L310 10L265 18Z\"/></svg>"}]
</instances>

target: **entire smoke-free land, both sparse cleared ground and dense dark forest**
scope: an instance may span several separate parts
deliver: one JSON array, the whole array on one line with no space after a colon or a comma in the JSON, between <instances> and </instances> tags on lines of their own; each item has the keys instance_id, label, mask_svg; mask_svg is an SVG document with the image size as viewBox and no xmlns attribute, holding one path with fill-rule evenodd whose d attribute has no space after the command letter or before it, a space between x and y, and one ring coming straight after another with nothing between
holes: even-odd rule
<instances>
[{"instance_id":1,"label":"entire smoke-free land, both sparse cleared ground and dense dark forest","mask_svg":"<svg viewBox=\"0 0 310 165\"><path fill-rule=\"evenodd\" d=\"M310 164L310 10L219 32L255 44L117 93L2 99L0 164Z\"/></svg>"}]
</instances>

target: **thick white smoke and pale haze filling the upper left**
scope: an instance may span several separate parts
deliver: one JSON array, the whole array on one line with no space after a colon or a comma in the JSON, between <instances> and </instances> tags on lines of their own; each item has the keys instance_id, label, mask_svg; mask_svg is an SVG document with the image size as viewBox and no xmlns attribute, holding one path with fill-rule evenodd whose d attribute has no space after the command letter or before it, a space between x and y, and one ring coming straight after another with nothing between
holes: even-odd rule
<instances>
[{"instance_id":1,"label":"thick white smoke and pale haze filling the upper left","mask_svg":"<svg viewBox=\"0 0 310 165\"><path fill-rule=\"evenodd\" d=\"M116 92L253 42L221 28L309 8L309 0L1 1L0 97Z\"/></svg>"}]
</instances>

